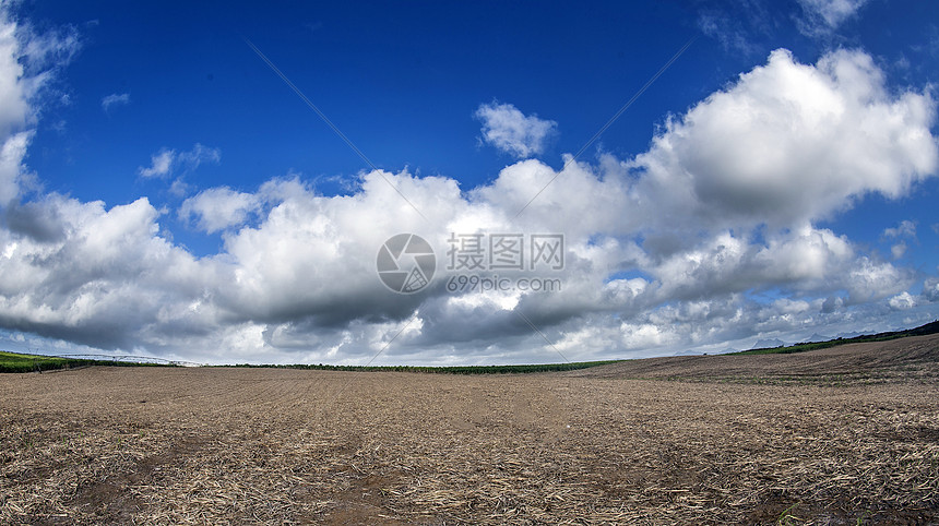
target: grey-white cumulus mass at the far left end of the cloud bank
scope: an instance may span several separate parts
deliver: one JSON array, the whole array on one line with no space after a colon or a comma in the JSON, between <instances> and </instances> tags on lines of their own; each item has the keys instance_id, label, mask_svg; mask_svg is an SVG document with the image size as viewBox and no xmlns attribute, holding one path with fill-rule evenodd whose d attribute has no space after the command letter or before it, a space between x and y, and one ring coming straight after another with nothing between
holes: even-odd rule
<instances>
[{"instance_id":1,"label":"grey-white cumulus mass at the far left end of the cloud bank","mask_svg":"<svg viewBox=\"0 0 939 526\"><path fill-rule=\"evenodd\" d=\"M51 235L0 231L0 323L8 330L132 349L147 344L147 327L187 331L187 318L198 318L193 291L212 283L211 268L157 236L158 212L146 199L107 210L50 195L29 213ZM179 308L186 315L169 320Z\"/></svg>"}]
</instances>

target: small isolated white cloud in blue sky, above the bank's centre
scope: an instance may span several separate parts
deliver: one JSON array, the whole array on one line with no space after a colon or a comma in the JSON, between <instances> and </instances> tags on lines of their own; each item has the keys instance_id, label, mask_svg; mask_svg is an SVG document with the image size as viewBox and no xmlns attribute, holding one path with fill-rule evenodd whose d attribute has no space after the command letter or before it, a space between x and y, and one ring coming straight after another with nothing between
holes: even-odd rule
<instances>
[{"instance_id":1,"label":"small isolated white cloud in blue sky, above the bank's centre","mask_svg":"<svg viewBox=\"0 0 939 526\"><path fill-rule=\"evenodd\" d=\"M526 117L511 104L483 104L475 116L483 121L484 141L519 158L543 153L558 125L534 115Z\"/></svg>"}]
</instances>

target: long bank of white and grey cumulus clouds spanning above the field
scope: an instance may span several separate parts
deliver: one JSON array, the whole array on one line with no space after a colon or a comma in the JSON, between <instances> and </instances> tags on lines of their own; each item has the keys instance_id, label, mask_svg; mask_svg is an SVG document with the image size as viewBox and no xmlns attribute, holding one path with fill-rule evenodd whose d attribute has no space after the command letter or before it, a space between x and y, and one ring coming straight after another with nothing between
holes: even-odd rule
<instances>
[{"instance_id":1,"label":"long bank of white and grey cumulus clouds spanning above the field","mask_svg":"<svg viewBox=\"0 0 939 526\"><path fill-rule=\"evenodd\" d=\"M333 196L296 177L203 190L178 214L222 232L206 256L170 241L165 212L146 198L108 206L41 195L4 208L0 327L200 361L358 363L379 351L377 362L392 363L557 361L558 350L596 359L834 334L858 320L892 328L878 325L884 312L928 314L906 292L923 278L818 222L935 174L935 116L927 94L888 91L865 53L801 64L780 50L631 159L560 172L520 160L468 191L407 170L360 174ZM512 133L510 152L536 151L528 132ZM11 158L17 177L23 157ZM164 150L141 176L219 158L200 144ZM376 271L379 248L401 232L438 254L439 277L419 294L392 292ZM525 275L559 278L561 290L448 290L452 232L563 234L564 267ZM922 297L934 289L927 280Z\"/></svg>"}]
</instances>

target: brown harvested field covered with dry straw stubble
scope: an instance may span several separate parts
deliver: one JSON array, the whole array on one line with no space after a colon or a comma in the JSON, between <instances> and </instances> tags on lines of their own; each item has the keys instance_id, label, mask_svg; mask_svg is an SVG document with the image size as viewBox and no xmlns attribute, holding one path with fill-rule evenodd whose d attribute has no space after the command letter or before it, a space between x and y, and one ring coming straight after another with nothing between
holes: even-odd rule
<instances>
[{"instance_id":1,"label":"brown harvested field covered with dry straw stubble","mask_svg":"<svg viewBox=\"0 0 939 526\"><path fill-rule=\"evenodd\" d=\"M937 343L538 375L0 374L0 523L939 524Z\"/></svg>"}]
</instances>

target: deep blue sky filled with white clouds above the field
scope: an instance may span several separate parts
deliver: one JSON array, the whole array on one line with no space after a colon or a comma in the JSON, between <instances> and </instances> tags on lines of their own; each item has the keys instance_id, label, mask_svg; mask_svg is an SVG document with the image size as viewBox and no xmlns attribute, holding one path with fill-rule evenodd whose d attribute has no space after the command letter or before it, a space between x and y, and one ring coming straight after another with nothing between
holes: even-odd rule
<instances>
[{"instance_id":1,"label":"deep blue sky filled with white clouds above the field","mask_svg":"<svg viewBox=\"0 0 939 526\"><path fill-rule=\"evenodd\" d=\"M931 2L0 11L10 348L544 362L939 312ZM457 230L563 234L510 275L563 290L449 294ZM439 256L416 295L377 277L400 232Z\"/></svg>"}]
</instances>

